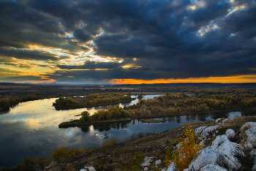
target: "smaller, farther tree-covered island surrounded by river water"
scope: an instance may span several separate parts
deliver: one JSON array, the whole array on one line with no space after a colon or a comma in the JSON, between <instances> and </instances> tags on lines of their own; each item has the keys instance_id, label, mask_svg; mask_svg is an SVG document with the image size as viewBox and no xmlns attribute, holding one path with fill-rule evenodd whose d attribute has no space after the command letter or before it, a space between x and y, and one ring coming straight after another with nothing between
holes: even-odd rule
<instances>
[{"instance_id":1,"label":"smaller, farther tree-covered island surrounded by river water","mask_svg":"<svg viewBox=\"0 0 256 171\"><path fill-rule=\"evenodd\" d=\"M125 95L124 93L100 93L100 94L89 94L86 97L62 97L56 99L53 106L56 110L64 109L75 109L81 107L94 107L105 104L113 104L118 102L129 102L132 101L131 94Z\"/></svg>"}]
</instances>

